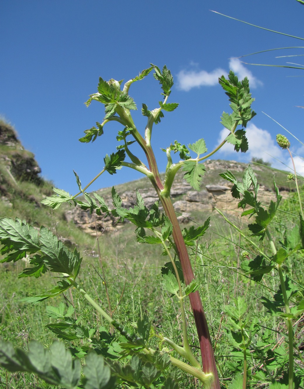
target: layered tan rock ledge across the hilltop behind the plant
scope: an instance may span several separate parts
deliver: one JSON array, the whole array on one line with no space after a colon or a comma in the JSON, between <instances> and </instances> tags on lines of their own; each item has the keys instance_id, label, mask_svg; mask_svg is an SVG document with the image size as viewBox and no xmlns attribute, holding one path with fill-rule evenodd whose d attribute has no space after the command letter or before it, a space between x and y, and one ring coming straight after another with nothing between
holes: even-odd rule
<instances>
[{"instance_id":1,"label":"layered tan rock ledge across the hilltop behind the plant","mask_svg":"<svg viewBox=\"0 0 304 389\"><path fill-rule=\"evenodd\" d=\"M180 223L189 223L189 221L196 220L199 212L209 213L215 208L222 210L224 213L236 211L238 209L238 200L232 198L230 189L232 184L222 179L217 171L224 172L225 170L232 170L235 172L243 172L246 168L245 164L236 163L235 161L207 161L206 163L206 182L212 182L201 187L201 191L197 192L183 180L182 173L176 175L176 181L171 188L171 199L175 207L176 214ZM255 169L255 170L259 170ZM207 172L209 177L207 177ZM122 186L123 187L123 186ZM136 186L134 186L136 187ZM130 190L119 190L117 192L121 196L122 206L125 208L134 207L136 203L136 194ZM158 200L157 195L152 187L146 187L139 190L147 208L150 208L155 201ZM97 192L98 195L104 198L109 208L113 207L110 189L101 189ZM270 192L265 187L260 188L260 200L264 203L269 203L274 200L274 193ZM160 204L161 209L161 204ZM77 226L82 228L86 233L96 236L96 230L102 232L110 232L122 228L122 224L116 224L117 218L114 216L98 216L96 214L90 215L89 212L81 210L79 207L69 209L65 212L67 221L73 221ZM129 223L125 221L125 223Z\"/></svg>"}]
</instances>

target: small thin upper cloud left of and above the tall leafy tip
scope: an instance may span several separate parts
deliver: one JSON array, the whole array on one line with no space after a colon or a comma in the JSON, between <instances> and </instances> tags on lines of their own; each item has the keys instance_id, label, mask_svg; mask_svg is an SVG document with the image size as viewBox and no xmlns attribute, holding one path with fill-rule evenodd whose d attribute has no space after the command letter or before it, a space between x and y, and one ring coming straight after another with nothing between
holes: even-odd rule
<instances>
[{"instance_id":1,"label":"small thin upper cloud left of and above the tall leafy tip","mask_svg":"<svg viewBox=\"0 0 304 389\"><path fill-rule=\"evenodd\" d=\"M229 61L229 68L238 75L239 79L248 77L250 86L256 88L258 85L262 85L252 72L248 70L239 59L234 58ZM222 75L227 75L228 71L222 68L217 68L211 72L206 70L181 70L177 74L178 88L183 91L189 91L192 88L198 88L200 86L213 86L218 84L218 78Z\"/></svg>"}]
</instances>

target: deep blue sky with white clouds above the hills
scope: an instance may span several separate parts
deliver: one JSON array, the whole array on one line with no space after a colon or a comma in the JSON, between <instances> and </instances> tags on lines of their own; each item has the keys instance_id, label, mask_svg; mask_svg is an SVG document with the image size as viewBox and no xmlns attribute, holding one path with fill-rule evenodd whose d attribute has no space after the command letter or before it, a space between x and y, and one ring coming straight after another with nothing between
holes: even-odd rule
<instances>
[{"instance_id":1,"label":"deep blue sky with white clouds above the hills","mask_svg":"<svg viewBox=\"0 0 304 389\"><path fill-rule=\"evenodd\" d=\"M248 125L246 154L225 147L214 158L248 162L255 156L283 168L276 159L288 164L288 155L275 142L276 134L283 133L304 174L300 158L304 147L262 113L304 142L304 110L297 107L304 105L303 71L241 62L303 64L303 48L235 59L266 49L304 46L304 40L260 30L210 10L304 37L304 6L295 0L0 2L0 115L35 154L46 179L75 194L73 169L83 186L102 170L105 154L115 152L119 128L109 123L93 144L81 144L83 131L104 116L101 103L87 108L84 102L97 91L100 76L127 81L149 63L160 68L166 64L171 70L175 84L168 102L180 104L154 126L152 145L160 170L166 166L160 149L171 142L189 144L203 137L211 151L225 137L220 116L223 110L230 113L230 108L217 79L232 69L239 77L248 76L257 116ZM286 55L293 56L276 58ZM141 105L157 108L160 93L152 74L129 90L139 108L134 112L135 124L142 132ZM139 173L123 168L114 176L103 174L90 189L137 178Z\"/></svg>"}]
</instances>

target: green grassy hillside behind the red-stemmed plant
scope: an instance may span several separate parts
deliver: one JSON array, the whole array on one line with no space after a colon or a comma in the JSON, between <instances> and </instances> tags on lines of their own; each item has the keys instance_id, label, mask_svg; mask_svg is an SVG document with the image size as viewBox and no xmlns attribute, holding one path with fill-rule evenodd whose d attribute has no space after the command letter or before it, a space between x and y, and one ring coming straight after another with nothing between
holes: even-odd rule
<instances>
[{"instance_id":1,"label":"green grassy hillside behind the red-stemmed plant","mask_svg":"<svg viewBox=\"0 0 304 389\"><path fill-rule=\"evenodd\" d=\"M12 128L10 130L13 131ZM96 303L105 308L108 314L117 321L128 324L134 330L136 330L138 317L142 318L144 314L147 314L152 321L155 333L161 333L177 344L181 344L180 307L177 299L170 298L170 293L168 294L162 287L161 267L169 259L168 256L162 255L161 247L157 244L148 245L136 242L135 227L131 223L124 223L119 228L102 232L100 228L97 228L96 222L94 237L93 233L84 233L82 228L79 228L73 221L66 220L66 211L70 209L69 206L62 206L56 211L42 206L40 199L51 195L52 184L40 177L38 164L34 163L33 155L23 150L15 138L11 135L9 144L5 144L6 140L0 145L0 159L3 161L0 167L0 217L14 218L17 216L25 219L35 228L44 225L51 229L59 240L70 249L76 247L83 256L78 282ZM20 169L14 170L13 160L21 161L18 166L23 166L24 160L31 160L31 166L34 168L33 174L17 176L16 170L20 172ZM246 165L233 161L215 161L207 162L206 167L202 191L205 191L206 185L210 184L227 185L227 182L218 175L226 169L229 169L237 179L241 179ZM260 165L256 165L253 169L262 186L262 193L266 195L273 193L271 191L273 191L274 174L278 187L286 192L285 200L280 203L279 211L271 224L274 244L280 247L287 239L286 231L297 223L299 212L297 197L295 193L288 193L288 190L294 190L294 182L288 182L287 174L284 172L276 172ZM176 187L178 185L183 186L182 175L177 177ZM116 189L119 194L128 194L133 193L135 187L145 193L149 193L152 189L146 178L119 185ZM100 189L98 194L110 202L110 191L111 188ZM178 193L176 191L176 195L173 196L174 202L183 201L189 195L189 193ZM227 196L230 197L229 190ZM234 201L234 203L237 202L238 200ZM267 308L262 303L262 296L266 296L269 300L275 298L275 301L280 303L280 280L274 270L266 273L264 278L257 282L245 272L242 267L244 262L242 251L248 251L250 259L253 259L259 252L254 254L252 245L242 238L242 234L248 232L248 220L240 217L240 212L236 207L231 213L225 211L226 209L222 208L222 212L228 216L231 224L226 223L212 206L199 212L190 212L190 221L182 224L182 227L186 226L188 229L191 225L197 227L208 216L211 216L210 228L196 245L189 248L189 253L200 283L199 293L208 318L222 387L227 388L232 377L243 374L244 353L238 347L239 338L234 338L233 331L236 329L227 313L229 312L227 307L234 306L234 299L239 297L244 298L247 305L246 316L243 319L245 333L250 338L245 350L248 359L248 387L269 387L272 380L276 382L281 380L283 384L286 382L288 366L287 342L285 341L287 339L286 324L283 317L269 313L269 307ZM232 224L236 225L241 233L234 229ZM266 252L268 256L272 255L266 239L259 241L259 238L253 237L252 240L260 247L260 250ZM299 303L304 293L303 259L303 250L300 250L283 264L284 272L289 277L286 279L290 288L288 296L294 305ZM33 277L17 279L17 275L27 266L26 261L5 263L0 266L0 333L2 338L12 341L14 345L24 350L28 348L28 343L33 339L49 347L56 336L45 327L45 324L56 323L58 320L48 317L45 308L50 305L58 307L59 303L63 303L65 309L73 306L75 308L73 318L79 319L81 324L94 329L98 334L105 331L103 327L106 331L109 330L108 323L92 311L83 295L77 291L72 293L69 289L58 297L44 300L35 306L20 301L22 298L45 293L58 281L48 275L38 279L33 279ZM195 356L198 356L196 329L188 303L186 303L186 311L190 344L194 345L192 350ZM293 326L295 375L301 377L304 369L302 315L299 314L297 320L294 320ZM110 328L110 331L113 332L113 328ZM118 338L114 340L118 341ZM150 339L150 342L154 349L164 347L155 337ZM113 344L115 346L116 343ZM82 338L74 339L72 343L66 342L66 345L77 354L77 350L92 347L92 342L87 338ZM99 350L98 347L95 349ZM168 351L170 355L177 357L173 349L168 349ZM196 379L189 378L186 374L182 374L179 379L180 388L201 387ZM43 380L31 374L9 374L3 368L0 368L0 385L12 389L53 388L52 385L45 384ZM131 387L127 383L119 385L121 389ZM298 380L295 387L304 388L304 385L301 380Z\"/></svg>"}]
</instances>

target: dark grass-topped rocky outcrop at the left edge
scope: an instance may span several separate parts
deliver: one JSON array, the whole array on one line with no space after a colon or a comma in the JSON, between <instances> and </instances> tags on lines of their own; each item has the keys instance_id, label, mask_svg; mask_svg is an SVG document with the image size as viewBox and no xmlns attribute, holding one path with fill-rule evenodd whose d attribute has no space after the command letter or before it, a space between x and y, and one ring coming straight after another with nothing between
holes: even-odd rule
<instances>
[{"instance_id":1,"label":"dark grass-topped rocky outcrop at the left edge","mask_svg":"<svg viewBox=\"0 0 304 389\"><path fill-rule=\"evenodd\" d=\"M41 169L34 155L24 150L14 128L0 120L0 191L5 195L5 187L16 180L41 182Z\"/></svg>"}]
</instances>

